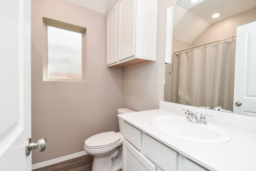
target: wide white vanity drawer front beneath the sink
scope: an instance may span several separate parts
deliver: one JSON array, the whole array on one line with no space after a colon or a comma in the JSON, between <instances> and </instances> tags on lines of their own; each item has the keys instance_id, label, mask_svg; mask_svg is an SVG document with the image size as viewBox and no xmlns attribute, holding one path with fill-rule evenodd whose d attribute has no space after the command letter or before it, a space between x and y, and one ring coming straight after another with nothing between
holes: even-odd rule
<instances>
[{"instance_id":1,"label":"wide white vanity drawer front beneath the sink","mask_svg":"<svg viewBox=\"0 0 256 171\"><path fill-rule=\"evenodd\" d=\"M178 153L146 133L142 134L142 149L143 154L164 171L177 170Z\"/></svg>"}]
</instances>

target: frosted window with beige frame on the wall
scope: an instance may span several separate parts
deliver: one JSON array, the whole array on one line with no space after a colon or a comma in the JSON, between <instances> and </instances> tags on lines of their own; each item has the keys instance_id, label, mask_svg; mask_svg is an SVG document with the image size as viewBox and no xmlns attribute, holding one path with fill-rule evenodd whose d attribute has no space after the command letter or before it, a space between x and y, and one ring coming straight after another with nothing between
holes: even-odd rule
<instances>
[{"instance_id":1,"label":"frosted window with beige frame on the wall","mask_svg":"<svg viewBox=\"0 0 256 171\"><path fill-rule=\"evenodd\" d=\"M85 82L86 28L43 18L44 81Z\"/></svg>"}]
</instances>

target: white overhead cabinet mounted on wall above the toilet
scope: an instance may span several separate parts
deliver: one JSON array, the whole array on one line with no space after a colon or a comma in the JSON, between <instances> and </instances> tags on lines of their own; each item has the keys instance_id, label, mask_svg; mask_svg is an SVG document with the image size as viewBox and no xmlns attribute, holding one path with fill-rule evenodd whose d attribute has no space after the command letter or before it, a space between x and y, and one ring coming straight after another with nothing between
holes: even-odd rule
<instances>
[{"instance_id":1,"label":"white overhead cabinet mounted on wall above the toilet","mask_svg":"<svg viewBox=\"0 0 256 171\"><path fill-rule=\"evenodd\" d=\"M108 67L156 60L157 0L114 0L106 14Z\"/></svg>"}]
</instances>

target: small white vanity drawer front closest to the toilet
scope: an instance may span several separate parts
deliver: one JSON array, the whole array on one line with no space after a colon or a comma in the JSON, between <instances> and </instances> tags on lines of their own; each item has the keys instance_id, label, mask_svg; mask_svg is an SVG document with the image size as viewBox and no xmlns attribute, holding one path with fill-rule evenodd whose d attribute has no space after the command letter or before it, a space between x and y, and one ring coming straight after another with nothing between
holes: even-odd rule
<instances>
[{"instance_id":1,"label":"small white vanity drawer front closest to the toilet","mask_svg":"<svg viewBox=\"0 0 256 171\"><path fill-rule=\"evenodd\" d=\"M124 121L124 138L127 139L130 143L132 143L132 145L134 145L134 147L136 147L138 150L141 149L141 133L142 131Z\"/></svg>"}]
</instances>

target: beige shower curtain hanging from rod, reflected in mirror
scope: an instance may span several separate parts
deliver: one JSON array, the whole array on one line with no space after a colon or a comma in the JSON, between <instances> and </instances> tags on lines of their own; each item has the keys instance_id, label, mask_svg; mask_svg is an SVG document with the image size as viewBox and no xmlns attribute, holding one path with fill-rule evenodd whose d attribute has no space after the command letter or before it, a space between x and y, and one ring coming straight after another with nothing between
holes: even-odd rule
<instances>
[{"instance_id":1,"label":"beige shower curtain hanging from rod, reflected in mirror","mask_svg":"<svg viewBox=\"0 0 256 171\"><path fill-rule=\"evenodd\" d=\"M173 56L171 101L233 111L236 40Z\"/></svg>"}]
</instances>

